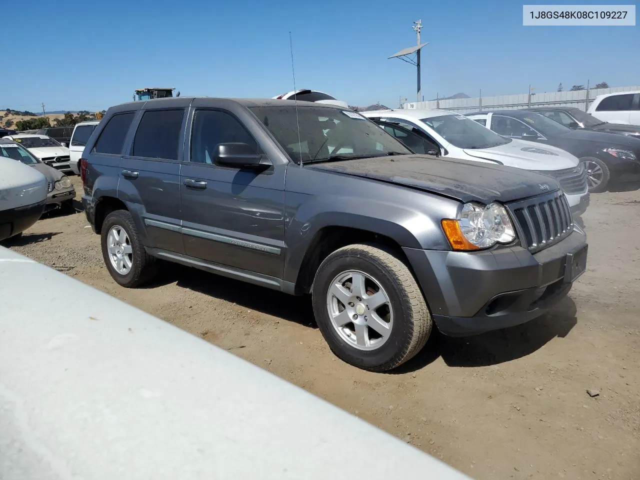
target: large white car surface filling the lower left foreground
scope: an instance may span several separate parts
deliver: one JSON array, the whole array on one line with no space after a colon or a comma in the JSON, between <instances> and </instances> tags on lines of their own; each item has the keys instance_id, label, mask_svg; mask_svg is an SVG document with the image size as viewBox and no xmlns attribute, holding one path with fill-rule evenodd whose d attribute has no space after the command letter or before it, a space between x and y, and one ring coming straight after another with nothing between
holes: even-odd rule
<instances>
[{"instance_id":1,"label":"large white car surface filling the lower left foreground","mask_svg":"<svg viewBox=\"0 0 640 480\"><path fill-rule=\"evenodd\" d=\"M0 291L3 480L469 480L224 349L2 247Z\"/></svg>"}]
</instances>

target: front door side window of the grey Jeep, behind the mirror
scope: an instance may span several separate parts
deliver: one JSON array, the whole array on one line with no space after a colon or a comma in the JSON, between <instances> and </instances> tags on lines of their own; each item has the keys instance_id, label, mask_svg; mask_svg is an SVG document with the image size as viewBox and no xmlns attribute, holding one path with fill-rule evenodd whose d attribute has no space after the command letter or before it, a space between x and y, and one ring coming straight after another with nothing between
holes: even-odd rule
<instances>
[{"instance_id":1,"label":"front door side window of the grey Jeep, behind the mirror","mask_svg":"<svg viewBox=\"0 0 640 480\"><path fill-rule=\"evenodd\" d=\"M258 152L258 143L243 125L223 111L198 110L193 121L191 161L213 163L214 149L219 143L248 143Z\"/></svg>"}]
</instances>

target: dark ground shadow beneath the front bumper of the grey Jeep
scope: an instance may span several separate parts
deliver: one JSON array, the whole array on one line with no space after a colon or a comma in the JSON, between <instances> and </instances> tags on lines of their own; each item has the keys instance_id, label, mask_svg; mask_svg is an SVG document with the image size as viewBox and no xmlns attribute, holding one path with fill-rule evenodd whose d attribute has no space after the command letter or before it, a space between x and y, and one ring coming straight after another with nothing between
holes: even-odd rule
<instances>
[{"instance_id":1,"label":"dark ground shadow beneath the front bumper of the grey Jeep","mask_svg":"<svg viewBox=\"0 0 640 480\"><path fill-rule=\"evenodd\" d=\"M547 314L522 325L474 337L445 337L433 332L426 346L391 373L421 369L442 356L449 367L486 367L527 356L556 337L566 337L577 323L575 303L565 297Z\"/></svg>"}]
</instances>

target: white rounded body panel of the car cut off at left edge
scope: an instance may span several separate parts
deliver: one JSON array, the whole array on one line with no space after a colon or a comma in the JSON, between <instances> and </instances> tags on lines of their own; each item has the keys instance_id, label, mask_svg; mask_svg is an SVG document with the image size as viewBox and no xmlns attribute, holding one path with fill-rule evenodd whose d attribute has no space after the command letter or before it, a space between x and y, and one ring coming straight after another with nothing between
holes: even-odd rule
<instances>
[{"instance_id":1,"label":"white rounded body panel of the car cut off at left edge","mask_svg":"<svg viewBox=\"0 0 640 480\"><path fill-rule=\"evenodd\" d=\"M42 173L12 158L0 157L0 211L38 204L46 199L47 179Z\"/></svg>"}]
</instances>

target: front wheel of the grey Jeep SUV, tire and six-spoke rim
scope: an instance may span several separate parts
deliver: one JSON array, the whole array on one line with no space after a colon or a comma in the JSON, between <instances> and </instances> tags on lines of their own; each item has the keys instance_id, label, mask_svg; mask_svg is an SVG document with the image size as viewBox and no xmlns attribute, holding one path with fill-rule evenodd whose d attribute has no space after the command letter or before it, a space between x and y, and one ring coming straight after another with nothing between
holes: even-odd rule
<instances>
[{"instance_id":1,"label":"front wheel of the grey Jeep SUV, tire and six-spoke rim","mask_svg":"<svg viewBox=\"0 0 640 480\"><path fill-rule=\"evenodd\" d=\"M317 270L312 303L333 353L361 369L384 372L424 347L433 321L407 266L369 244L331 253Z\"/></svg>"}]
</instances>

